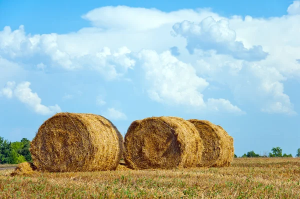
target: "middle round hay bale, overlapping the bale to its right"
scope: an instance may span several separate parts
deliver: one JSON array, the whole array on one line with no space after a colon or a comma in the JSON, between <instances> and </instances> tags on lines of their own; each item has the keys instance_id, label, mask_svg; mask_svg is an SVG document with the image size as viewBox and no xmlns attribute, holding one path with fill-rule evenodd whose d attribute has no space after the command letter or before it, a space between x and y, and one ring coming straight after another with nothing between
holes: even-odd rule
<instances>
[{"instance_id":1,"label":"middle round hay bale, overlapping the bale to its right","mask_svg":"<svg viewBox=\"0 0 300 199\"><path fill-rule=\"evenodd\" d=\"M131 169L195 167L202 140L194 125L179 117L133 121L124 138L124 161Z\"/></svg>"}]
</instances>

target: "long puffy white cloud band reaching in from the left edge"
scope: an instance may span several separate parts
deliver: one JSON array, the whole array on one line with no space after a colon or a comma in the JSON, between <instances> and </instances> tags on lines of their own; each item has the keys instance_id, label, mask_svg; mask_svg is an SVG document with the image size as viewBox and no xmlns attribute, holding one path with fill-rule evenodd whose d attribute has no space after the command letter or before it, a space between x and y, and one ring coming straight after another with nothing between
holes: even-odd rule
<instances>
[{"instance_id":1,"label":"long puffy white cloud band reaching in from the left edge","mask_svg":"<svg viewBox=\"0 0 300 199\"><path fill-rule=\"evenodd\" d=\"M58 41L58 34L26 35L23 25L14 31L5 26L0 31L0 55L8 59L23 58L35 62L36 55L43 57L44 61L50 59L52 66L59 66L66 70L92 69L98 71L105 79L111 80L122 76L134 65L134 60L126 54L131 51L127 47L119 47L111 52L108 47L103 46L94 53L74 54L65 51ZM45 64L36 63L37 68L44 69Z\"/></svg>"}]
</instances>

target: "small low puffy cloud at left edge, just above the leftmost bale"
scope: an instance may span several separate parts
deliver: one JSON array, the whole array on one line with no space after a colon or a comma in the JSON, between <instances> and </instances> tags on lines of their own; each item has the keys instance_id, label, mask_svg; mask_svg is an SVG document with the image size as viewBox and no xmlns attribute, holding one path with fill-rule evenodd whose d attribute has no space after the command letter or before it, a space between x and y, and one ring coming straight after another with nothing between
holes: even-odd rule
<instances>
[{"instance_id":1,"label":"small low puffy cloud at left edge, just above the leftmost bale","mask_svg":"<svg viewBox=\"0 0 300 199\"><path fill-rule=\"evenodd\" d=\"M28 81L21 82L17 85L14 81L8 81L4 88L1 89L1 94L7 98L15 96L19 101L26 104L38 114L48 115L61 112L61 109L57 104L54 106L45 106L41 104L41 99L36 92L32 92L29 86L30 82Z\"/></svg>"}]
</instances>

